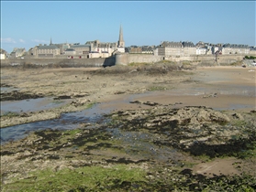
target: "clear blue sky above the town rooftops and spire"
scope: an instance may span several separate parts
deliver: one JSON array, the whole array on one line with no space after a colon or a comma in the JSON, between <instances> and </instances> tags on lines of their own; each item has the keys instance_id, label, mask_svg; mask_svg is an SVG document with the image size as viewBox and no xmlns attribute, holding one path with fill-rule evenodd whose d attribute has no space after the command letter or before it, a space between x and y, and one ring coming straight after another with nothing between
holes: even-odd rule
<instances>
[{"instance_id":1,"label":"clear blue sky above the town rooftops and spire","mask_svg":"<svg viewBox=\"0 0 256 192\"><path fill-rule=\"evenodd\" d=\"M1 1L1 48L198 41L255 46L255 1Z\"/></svg>"}]
</instances>

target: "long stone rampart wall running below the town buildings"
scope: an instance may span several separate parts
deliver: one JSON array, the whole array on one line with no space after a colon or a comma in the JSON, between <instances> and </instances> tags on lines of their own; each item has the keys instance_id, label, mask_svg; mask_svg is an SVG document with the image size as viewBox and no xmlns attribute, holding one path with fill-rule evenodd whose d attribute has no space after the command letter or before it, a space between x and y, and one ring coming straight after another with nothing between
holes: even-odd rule
<instances>
[{"instance_id":1,"label":"long stone rampart wall running below the town buildings","mask_svg":"<svg viewBox=\"0 0 256 192\"><path fill-rule=\"evenodd\" d=\"M111 58L95 59L3 59L1 67L4 66L56 66L61 68L79 68L79 67L106 67L113 65L128 65L130 63L155 63L161 60L170 60L182 63L184 61L193 61L195 65L222 65L231 64L242 60L245 55L195 55L195 56L172 56L163 57L147 54L117 54Z\"/></svg>"}]
</instances>

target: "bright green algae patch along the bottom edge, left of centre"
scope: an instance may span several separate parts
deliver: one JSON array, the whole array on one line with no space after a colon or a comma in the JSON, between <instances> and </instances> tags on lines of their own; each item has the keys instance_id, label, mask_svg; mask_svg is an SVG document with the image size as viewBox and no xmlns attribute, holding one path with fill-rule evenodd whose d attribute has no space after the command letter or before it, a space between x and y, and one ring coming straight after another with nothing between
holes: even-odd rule
<instances>
[{"instance_id":1,"label":"bright green algae patch along the bottom edge, left of centre","mask_svg":"<svg viewBox=\"0 0 256 192\"><path fill-rule=\"evenodd\" d=\"M84 188L85 191L109 191L125 182L143 182L145 173L128 165L112 167L83 166L74 170L64 168L30 173L27 178L15 179L6 184L3 191L70 191ZM77 190L78 191L78 190Z\"/></svg>"}]
</instances>

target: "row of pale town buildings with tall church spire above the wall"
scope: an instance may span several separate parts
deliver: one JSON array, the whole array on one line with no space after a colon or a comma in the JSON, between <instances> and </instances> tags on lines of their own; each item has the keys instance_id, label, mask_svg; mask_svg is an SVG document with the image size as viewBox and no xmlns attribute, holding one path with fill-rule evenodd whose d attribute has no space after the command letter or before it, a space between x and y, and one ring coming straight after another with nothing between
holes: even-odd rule
<instances>
[{"instance_id":1,"label":"row of pale town buildings with tall church spire above the wall","mask_svg":"<svg viewBox=\"0 0 256 192\"><path fill-rule=\"evenodd\" d=\"M10 53L9 58L21 58L27 55L37 59L51 59L51 58L68 58L68 59L90 59L90 58L108 58L116 53L129 54L152 54L163 57L172 56L191 56L191 55L212 55L212 54L243 54L256 55L256 48L248 45L238 44L210 44L199 41L194 44L190 41L170 42L162 41L159 46L130 46L125 48L125 41L123 38L123 29L120 27L119 38L117 42L100 42L99 40L87 41L85 44L80 43L61 43L53 44L50 38L49 45L35 46L26 52L25 48L14 48ZM1 59L2 59L1 54Z\"/></svg>"}]
</instances>

